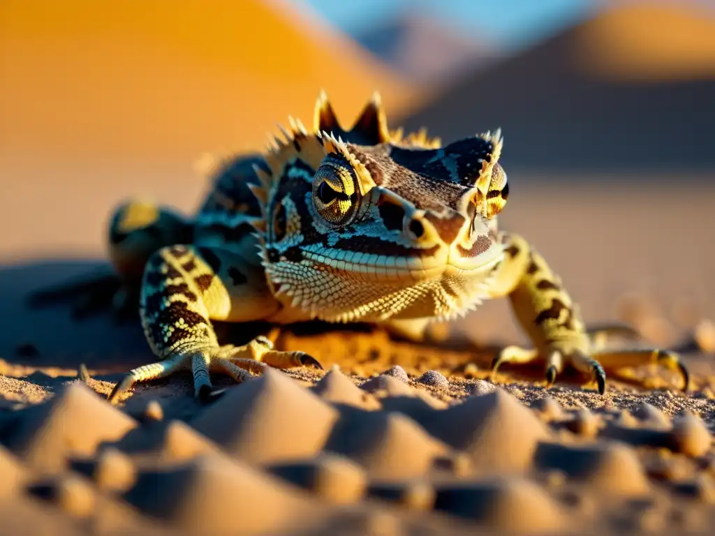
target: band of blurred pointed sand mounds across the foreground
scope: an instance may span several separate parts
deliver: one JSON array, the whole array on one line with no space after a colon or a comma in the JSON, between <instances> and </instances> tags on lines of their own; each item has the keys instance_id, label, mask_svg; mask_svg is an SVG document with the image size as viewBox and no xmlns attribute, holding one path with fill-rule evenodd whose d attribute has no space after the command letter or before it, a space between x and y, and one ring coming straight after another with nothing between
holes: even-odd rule
<instances>
[{"instance_id":1,"label":"band of blurred pointed sand mounds across the foreground","mask_svg":"<svg viewBox=\"0 0 715 536\"><path fill-rule=\"evenodd\" d=\"M472 380L463 392L485 394L440 400L430 392L456 392L455 379L424 375L271 369L181 420L164 416L172 399L147 396L134 420L69 382L0 427L0 516L58 534L698 533L715 521L714 437L692 412L659 410L660 395L588 410L535 387L528 407L526 387Z\"/></svg>"}]
</instances>

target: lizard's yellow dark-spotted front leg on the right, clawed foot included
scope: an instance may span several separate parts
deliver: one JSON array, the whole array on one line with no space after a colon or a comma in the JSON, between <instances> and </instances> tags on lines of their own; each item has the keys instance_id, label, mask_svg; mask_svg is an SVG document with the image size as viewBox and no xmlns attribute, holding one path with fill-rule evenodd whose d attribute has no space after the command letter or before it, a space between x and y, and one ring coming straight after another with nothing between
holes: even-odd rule
<instances>
[{"instance_id":1,"label":"lizard's yellow dark-spotted front leg on the right, clawed foot included","mask_svg":"<svg viewBox=\"0 0 715 536\"><path fill-rule=\"evenodd\" d=\"M674 352L654 349L609 351L593 344L581 315L546 261L525 239L516 234L502 234L506 244L505 259L498 269L492 297L508 295L513 312L533 342L533 349L506 347L492 363L496 372L504 362L545 362L544 376L551 386L563 367L573 367L588 374L606 390L606 369L618 369L657 362L679 371L688 386L688 373Z\"/></svg>"}]
</instances>

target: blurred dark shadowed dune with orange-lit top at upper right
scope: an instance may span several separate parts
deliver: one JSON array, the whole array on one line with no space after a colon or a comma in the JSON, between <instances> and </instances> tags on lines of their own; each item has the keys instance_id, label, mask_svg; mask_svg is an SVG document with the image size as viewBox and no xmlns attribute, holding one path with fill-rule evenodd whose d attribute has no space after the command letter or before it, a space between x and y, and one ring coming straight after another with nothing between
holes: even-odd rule
<instances>
[{"instance_id":1,"label":"blurred dark shadowed dune with orange-lit top at upper right","mask_svg":"<svg viewBox=\"0 0 715 536\"><path fill-rule=\"evenodd\" d=\"M465 73L405 124L448 140L501 126L513 169L687 178L715 168L714 35L703 8L619 3Z\"/></svg>"}]
</instances>

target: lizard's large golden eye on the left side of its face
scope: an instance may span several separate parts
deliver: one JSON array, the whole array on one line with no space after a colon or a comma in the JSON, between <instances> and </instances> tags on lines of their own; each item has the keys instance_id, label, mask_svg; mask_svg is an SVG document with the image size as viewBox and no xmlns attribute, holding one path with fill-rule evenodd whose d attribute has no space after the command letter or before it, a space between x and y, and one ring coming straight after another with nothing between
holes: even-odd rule
<instances>
[{"instance_id":1,"label":"lizard's large golden eye on the left side of its face","mask_svg":"<svg viewBox=\"0 0 715 536\"><path fill-rule=\"evenodd\" d=\"M315 210L332 225L346 225L357 212L360 192L350 168L323 164L315 172L312 200Z\"/></svg>"}]
</instances>

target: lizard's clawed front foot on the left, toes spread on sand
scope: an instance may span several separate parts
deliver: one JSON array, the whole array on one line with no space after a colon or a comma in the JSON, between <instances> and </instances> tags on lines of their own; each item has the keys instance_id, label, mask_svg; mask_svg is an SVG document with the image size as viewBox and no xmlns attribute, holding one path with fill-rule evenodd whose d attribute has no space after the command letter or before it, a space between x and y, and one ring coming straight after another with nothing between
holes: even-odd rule
<instances>
[{"instance_id":1,"label":"lizard's clawed front foot on the left, toes spread on sand","mask_svg":"<svg viewBox=\"0 0 715 536\"><path fill-rule=\"evenodd\" d=\"M209 372L228 374L237 383L262 374L265 367L289 369L312 367L323 369L320 362L305 352L281 352L263 336L248 344L221 347L199 347L175 352L162 361L145 364L129 371L112 389L107 399L116 404L123 394L139 382L167 377L179 370L190 369L194 377L194 396L202 402L215 399Z\"/></svg>"}]
</instances>

